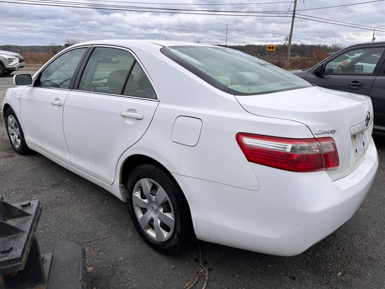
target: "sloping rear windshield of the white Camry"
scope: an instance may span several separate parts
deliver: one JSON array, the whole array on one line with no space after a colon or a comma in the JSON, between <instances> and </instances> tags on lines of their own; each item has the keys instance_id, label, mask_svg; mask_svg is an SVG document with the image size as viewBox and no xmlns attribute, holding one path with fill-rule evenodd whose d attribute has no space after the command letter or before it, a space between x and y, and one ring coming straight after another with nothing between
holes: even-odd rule
<instances>
[{"instance_id":1,"label":"sloping rear windshield of the white Camry","mask_svg":"<svg viewBox=\"0 0 385 289\"><path fill-rule=\"evenodd\" d=\"M207 46L170 46L161 52L221 91L255 95L311 84L273 64L238 50Z\"/></svg>"}]
</instances>

